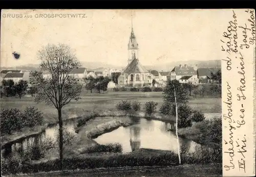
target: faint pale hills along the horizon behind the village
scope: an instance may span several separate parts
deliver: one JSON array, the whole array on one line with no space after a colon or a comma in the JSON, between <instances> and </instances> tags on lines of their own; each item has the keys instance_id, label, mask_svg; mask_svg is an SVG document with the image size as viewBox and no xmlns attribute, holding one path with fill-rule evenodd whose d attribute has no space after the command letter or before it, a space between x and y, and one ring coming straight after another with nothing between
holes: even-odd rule
<instances>
[{"instance_id":1,"label":"faint pale hills along the horizon behind the village","mask_svg":"<svg viewBox=\"0 0 256 177\"><path fill-rule=\"evenodd\" d=\"M187 66L196 66L198 68L221 68L221 60L208 60L208 61L199 61L199 60L189 60L189 61L177 61L177 62L170 62L161 64L160 62L156 63L156 65L149 65L145 66L146 69L155 69L155 70L163 70L163 71L169 71L172 70L175 66L179 65L185 65ZM4 69L18 69L18 70L37 70L39 67L38 64L27 64L23 66L16 66L16 67L2 67L1 70ZM88 70L95 70L95 71L102 71L104 68L116 68L121 69L123 66L117 66L117 65L110 65L105 64L103 62L82 62L82 67L88 68Z\"/></svg>"}]
</instances>

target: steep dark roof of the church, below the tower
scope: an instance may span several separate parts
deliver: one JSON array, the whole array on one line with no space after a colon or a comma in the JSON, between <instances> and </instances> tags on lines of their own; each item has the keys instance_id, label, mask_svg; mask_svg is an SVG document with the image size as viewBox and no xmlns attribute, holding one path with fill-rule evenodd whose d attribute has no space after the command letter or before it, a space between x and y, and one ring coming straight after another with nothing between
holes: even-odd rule
<instances>
[{"instance_id":1,"label":"steep dark roof of the church, below the tower","mask_svg":"<svg viewBox=\"0 0 256 177\"><path fill-rule=\"evenodd\" d=\"M149 71L139 62L139 59L134 59L123 71L122 74L131 73L148 73Z\"/></svg>"}]
</instances>

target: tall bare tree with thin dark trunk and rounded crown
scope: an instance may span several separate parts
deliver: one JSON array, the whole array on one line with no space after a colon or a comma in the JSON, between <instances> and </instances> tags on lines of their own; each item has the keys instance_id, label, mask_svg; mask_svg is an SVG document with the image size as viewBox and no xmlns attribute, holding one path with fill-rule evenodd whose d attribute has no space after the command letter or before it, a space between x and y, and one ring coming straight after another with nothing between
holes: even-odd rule
<instances>
[{"instance_id":1,"label":"tall bare tree with thin dark trunk and rounded crown","mask_svg":"<svg viewBox=\"0 0 256 177\"><path fill-rule=\"evenodd\" d=\"M59 124L59 158L63 160L63 125L61 110L63 106L69 104L72 99L78 100L82 91L83 83L76 79L70 72L80 67L80 62L71 52L68 45L48 44L38 51L38 59L41 61L40 71L33 71L30 74L37 94L35 101L44 102L47 105L53 105L58 112ZM43 75L47 73L47 75Z\"/></svg>"}]
</instances>

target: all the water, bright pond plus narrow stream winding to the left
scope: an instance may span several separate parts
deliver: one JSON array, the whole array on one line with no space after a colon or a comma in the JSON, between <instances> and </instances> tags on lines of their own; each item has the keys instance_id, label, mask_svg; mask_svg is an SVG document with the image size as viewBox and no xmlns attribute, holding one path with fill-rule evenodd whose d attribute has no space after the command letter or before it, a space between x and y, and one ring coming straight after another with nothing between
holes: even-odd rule
<instances>
[{"instance_id":1,"label":"all the water, bright pond plus narrow stream winding to the left","mask_svg":"<svg viewBox=\"0 0 256 177\"><path fill-rule=\"evenodd\" d=\"M96 117L100 119L102 117ZM129 117L127 117L129 118ZM75 134L75 126L77 120L80 118L68 119L63 121L63 127L68 132ZM129 127L119 127L109 133L94 138L99 144L106 143L120 143L123 147L123 153L129 153L139 148L151 148L160 150L178 151L177 137L175 131L175 123L170 121L160 121L145 118L131 118L133 125ZM10 142L2 146L1 153L3 157L7 157L16 153L19 150L25 150L28 146L33 144L40 144L46 138L57 140L58 124L48 126L44 131L20 138L14 142ZM86 136L86 135L84 135ZM193 151L197 143L191 140L179 138L180 145L185 148L184 150Z\"/></svg>"}]
</instances>

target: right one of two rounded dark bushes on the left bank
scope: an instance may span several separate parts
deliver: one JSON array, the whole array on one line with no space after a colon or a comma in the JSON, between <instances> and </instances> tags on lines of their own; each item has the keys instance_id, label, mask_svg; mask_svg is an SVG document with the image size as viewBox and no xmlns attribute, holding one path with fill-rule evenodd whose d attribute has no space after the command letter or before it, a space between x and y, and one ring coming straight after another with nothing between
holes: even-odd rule
<instances>
[{"instance_id":1,"label":"right one of two rounded dark bushes on the left bank","mask_svg":"<svg viewBox=\"0 0 256 177\"><path fill-rule=\"evenodd\" d=\"M41 124L44 117L35 107L27 107L22 113L22 122L24 127L34 127L35 125Z\"/></svg>"}]
</instances>

